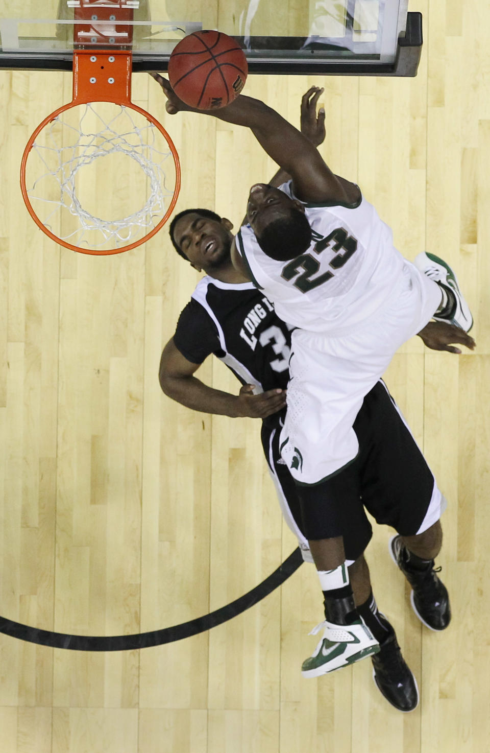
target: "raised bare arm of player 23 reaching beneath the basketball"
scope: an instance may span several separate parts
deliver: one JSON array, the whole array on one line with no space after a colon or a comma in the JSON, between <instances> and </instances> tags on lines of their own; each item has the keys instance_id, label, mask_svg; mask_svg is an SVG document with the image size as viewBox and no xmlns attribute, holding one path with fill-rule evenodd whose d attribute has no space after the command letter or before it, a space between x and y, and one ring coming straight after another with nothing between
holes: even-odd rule
<instances>
[{"instance_id":1,"label":"raised bare arm of player 23 reaching beneath the basketball","mask_svg":"<svg viewBox=\"0 0 490 753\"><path fill-rule=\"evenodd\" d=\"M291 175L294 192L300 200L354 203L359 199L358 187L333 175L309 139L259 99L241 94L226 107L193 110L175 96L166 78L157 73L151 75L167 97L166 110L170 114L181 110L201 112L250 128L269 157Z\"/></svg>"}]
</instances>

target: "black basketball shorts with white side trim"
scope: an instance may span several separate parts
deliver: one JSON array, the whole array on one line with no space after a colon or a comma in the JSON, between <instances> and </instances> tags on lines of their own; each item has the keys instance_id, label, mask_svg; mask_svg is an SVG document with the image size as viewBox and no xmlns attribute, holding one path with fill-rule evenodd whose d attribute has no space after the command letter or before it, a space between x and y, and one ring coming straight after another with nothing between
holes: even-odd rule
<instances>
[{"instance_id":1,"label":"black basketball shorts with white side trim","mask_svg":"<svg viewBox=\"0 0 490 753\"><path fill-rule=\"evenodd\" d=\"M418 533L426 520L429 524L435 522L443 509L434 475L381 380L364 398L354 429L359 442L358 456L335 478L348 560L358 559L373 535L364 508L376 523L391 526L406 536ZM283 514L304 546L307 526L303 524L297 486L279 453L280 431L278 422L275 427L263 425L263 450L278 488ZM345 474L343 493L342 474ZM316 508L320 511L316 514L318 535L310 538L330 538L330 480L313 488L318 492L321 506Z\"/></svg>"}]
</instances>

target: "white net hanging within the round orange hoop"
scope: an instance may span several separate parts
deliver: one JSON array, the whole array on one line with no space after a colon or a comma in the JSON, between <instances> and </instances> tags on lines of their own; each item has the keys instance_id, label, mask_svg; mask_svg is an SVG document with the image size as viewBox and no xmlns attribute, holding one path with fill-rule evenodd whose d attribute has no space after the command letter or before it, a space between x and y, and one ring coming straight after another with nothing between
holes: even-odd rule
<instances>
[{"instance_id":1,"label":"white net hanging within the round orange hoop","mask_svg":"<svg viewBox=\"0 0 490 753\"><path fill-rule=\"evenodd\" d=\"M38 134L26 163L36 215L60 239L97 252L138 242L161 221L175 191L172 151L138 111L76 105Z\"/></svg>"}]
</instances>

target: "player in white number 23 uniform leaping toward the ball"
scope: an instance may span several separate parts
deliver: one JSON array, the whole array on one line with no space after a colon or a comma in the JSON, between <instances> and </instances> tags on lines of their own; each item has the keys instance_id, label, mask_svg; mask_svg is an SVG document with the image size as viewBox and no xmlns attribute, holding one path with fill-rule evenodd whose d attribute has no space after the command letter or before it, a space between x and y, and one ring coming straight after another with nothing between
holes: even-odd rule
<instances>
[{"instance_id":1,"label":"player in white number 23 uniform leaping toward the ball","mask_svg":"<svg viewBox=\"0 0 490 753\"><path fill-rule=\"evenodd\" d=\"M166 93L169 113L190 109L165 79L154 78ZM342 541L342 501L352 493L352 462L358 453L352 425L364 396L405 340L434 315L468 330L470 311L452 270L422 255L418 264L435 268L431 279L404 260L392 245L391 230L359 187L333 175L311 142L278 113L239 96L208 114L250 127L292 178L286 191L266 184L251 187L248 227L236 239L242 255L232 248L232 256L275 303L278 315L296 327L281 453L298 485L325 593L324 639L332 645L357 643L355 661L370 651L372 636L354 629L358 614ZM328 525L324 505L329 505ZM326 672L328 661L325 657Z\"/></svg>"}]
</instances>

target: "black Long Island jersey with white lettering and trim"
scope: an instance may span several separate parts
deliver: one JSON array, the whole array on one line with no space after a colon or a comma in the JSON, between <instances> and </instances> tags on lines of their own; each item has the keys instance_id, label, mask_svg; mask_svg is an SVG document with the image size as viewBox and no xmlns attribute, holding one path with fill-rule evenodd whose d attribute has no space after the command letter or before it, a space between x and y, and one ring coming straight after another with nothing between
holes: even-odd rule
<instances>
[{"instance_id":1,"label":"black Long Island jersey with white lettering and trim","mask_svg":"<svg viewBox=\"0 0 490 753\"><path fill-rule=\"evenodd\" d=\"M214 353L256 392L288 386L291 328L251 282L203 277L181 312L174 343L194 364Z\"/></svg>"}]
</instances>

